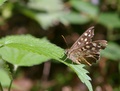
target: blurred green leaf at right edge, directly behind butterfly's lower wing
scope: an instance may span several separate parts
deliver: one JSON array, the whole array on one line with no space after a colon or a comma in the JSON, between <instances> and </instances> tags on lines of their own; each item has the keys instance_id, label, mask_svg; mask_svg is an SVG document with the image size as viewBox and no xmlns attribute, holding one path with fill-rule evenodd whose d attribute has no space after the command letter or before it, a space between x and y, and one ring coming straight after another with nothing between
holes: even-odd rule
<instances>
[{"instance_id":1,"label":"blurred green leaf at right edge, directly behind butterfly's lower wing","mask_svg":"<svg viewBox=\"0 0 120 91\"><path fill-rule=\"evenodd\" d=\"M120 60L120 46L116 43L109 42L107 48L102 51L102 55L112 60ZM114 55L113 55L114 54Z\"/></svg>"}]
</instances>

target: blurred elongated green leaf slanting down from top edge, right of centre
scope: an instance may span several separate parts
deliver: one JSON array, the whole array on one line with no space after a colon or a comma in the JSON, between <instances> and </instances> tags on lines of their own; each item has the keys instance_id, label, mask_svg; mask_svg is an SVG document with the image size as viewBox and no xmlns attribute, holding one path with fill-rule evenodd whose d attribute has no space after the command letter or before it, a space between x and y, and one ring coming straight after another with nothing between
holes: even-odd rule
<instances>
[{"instance_id":1,"label":"blurred elongated green leaf slanting down from top edge, right of centre","mask_svg":"<svg viewBox=\"0 0 120 91\"><path fill-rule=\"evenodd\" d=\"M89 17L95 18L98 15L98 7L90 2L83 0L70 0L72 6L78 11L87 14Z\"/></svg>"}]
</instances>

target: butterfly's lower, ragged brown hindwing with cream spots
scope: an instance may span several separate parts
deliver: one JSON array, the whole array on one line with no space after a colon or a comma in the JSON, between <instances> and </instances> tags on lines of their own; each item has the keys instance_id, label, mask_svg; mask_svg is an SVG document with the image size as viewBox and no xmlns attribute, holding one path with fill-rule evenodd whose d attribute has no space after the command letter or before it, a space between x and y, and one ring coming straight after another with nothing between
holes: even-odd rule
<instances>
[{"instance_id":1,"label":"butterfly's lower, ragged brown hindwing with cream spots","mask_svg":"<svg viewBox=\"0 0 120 91\"><path fill-rule=\"evenodd\" d=\"M78 56L78 61L80 63L87 63L91 65L91 63L96 62L100 58L100 50L105 49L107 46L107 41L105 40L97 40L91 42L77 50L80 51L80 56Z\"/></svg>"}]
</instances>

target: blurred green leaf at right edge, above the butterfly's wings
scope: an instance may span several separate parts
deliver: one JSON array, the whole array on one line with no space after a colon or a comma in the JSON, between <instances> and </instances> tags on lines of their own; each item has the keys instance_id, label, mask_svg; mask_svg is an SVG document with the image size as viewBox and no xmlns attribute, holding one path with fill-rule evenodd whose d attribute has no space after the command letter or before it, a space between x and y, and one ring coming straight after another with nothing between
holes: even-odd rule
<instances>
[{"instance_id":1,"label":"blurred green leaf at right edge, above the butterfly's wings","mask_svg":"<svg viewBox=\"0 0 120 91\"><path fill-rule=\"evenodd\" d=\"M98 17L98 23L108 28L120 28L120 19L116 13L101 13Z\"/></svg>"}]
</instances>

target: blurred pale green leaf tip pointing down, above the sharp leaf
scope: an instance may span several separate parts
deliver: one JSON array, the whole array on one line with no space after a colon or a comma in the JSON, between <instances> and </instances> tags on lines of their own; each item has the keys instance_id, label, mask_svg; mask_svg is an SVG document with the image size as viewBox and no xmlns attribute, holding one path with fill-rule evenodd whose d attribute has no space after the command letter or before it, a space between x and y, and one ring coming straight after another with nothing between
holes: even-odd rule
<instances>
[{"instance_id":1,"label":"blurred pale green leaf tip pointing down, above the sharp leaf","mask_svg":"<svg viewBox=\"0 0 120 91\"><path fill-rule=\"evenodd\" d=\"M36 13L35 20L44 28L47 29L49 27L53 27L57 25L59 22L62 22L62 17L65 12L56 12L56 13Z\"/></svg>"}]
</instances>

